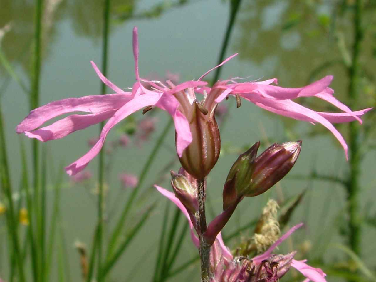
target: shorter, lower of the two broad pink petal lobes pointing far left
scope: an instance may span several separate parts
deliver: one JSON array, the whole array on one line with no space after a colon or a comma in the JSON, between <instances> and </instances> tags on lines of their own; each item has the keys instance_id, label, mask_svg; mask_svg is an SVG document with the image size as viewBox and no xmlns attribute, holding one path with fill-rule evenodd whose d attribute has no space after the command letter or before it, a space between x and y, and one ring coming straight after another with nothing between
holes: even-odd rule
<instances>
[{"instance_id":1,"label":"shorter, lower of the two broad pink petal lobes pointing far left","mask_svg":"<svg viewBox=\"0 0 376 282\"><path fill-rule=\"evenodd\" d=\"M112 110L87 115L70 115L69 117L58 120L49 126L30 132L26 131L25 135L29 138L36 138L42 142L52 139L60 139L76 130L81 130L93 124L107 120L112 117L116 111L117 110Z\"/></svg>"}]
</instances>

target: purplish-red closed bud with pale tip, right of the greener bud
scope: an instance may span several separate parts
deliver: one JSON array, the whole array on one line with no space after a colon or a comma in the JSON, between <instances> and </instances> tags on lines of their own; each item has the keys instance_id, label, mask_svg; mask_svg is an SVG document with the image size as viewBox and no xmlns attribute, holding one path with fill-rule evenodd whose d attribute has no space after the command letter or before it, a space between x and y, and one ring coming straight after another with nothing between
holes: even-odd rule
<instances>
[{"instance_id":1,"label":"purplish-red closed bud with pale tip, right of the greener bud","mask_svg":"<svg viewBox=\"0 0 376 282\"><path fill-rule=\"evenodd\" d=\"M294 166L302 141L273 144L255 160L252 183L245 196L264 193L281 180Z\"/></svg>"}]
</instances>

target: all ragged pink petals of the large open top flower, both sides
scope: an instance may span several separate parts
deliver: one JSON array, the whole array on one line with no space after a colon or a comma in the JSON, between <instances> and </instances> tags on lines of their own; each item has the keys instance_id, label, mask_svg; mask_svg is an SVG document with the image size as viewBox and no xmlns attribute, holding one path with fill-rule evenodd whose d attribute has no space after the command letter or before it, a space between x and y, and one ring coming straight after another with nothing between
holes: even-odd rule
<instances>
[{"instance_id":1,"label":"all ragged pink petals of the large open top flower, both sides","mask_svg":"<svg viewBox=\"0 0 376 282\"><path fill-rule=\"evenodd\" d=\"M224 80L218 81L212 88L206 86L207 83L202 81L203 77L215 68L225 64L237 54L230 56L221 64L207 71L197 81L187 81L176 86L171 81L167 81L169 86L167 87L161 82L140 79L138 72L137 27L133 29L133 55L135 58L135 75L137 81L133 85L131 92L126 92L114 85L103 76L94 62L91 62L99 78L103 83L109 86L109 88L115 91L114 94L68 98L36 108L18 124L16 127L17 133L24 132L25 135L30 138L36 138L45 142L63 138L76 130L84 129L108 119L97 143L88 153L65 168L68 174L74 175L82 171L99 153L112 127L139 109L156 106L167 111L174 120L176 151L181 158L183 151L193 140L188 120L191 118L191 115L193 115L194 109L196 109L194 105L196 104L200 108L200 111L203 113L206 112L209 117L212 117L214 116L217 104L227 96L232 95L237 97L238 102L240 102L240 97L243 97L255 105L276 114L308 121L310 123L318 122L323 124L323 126L329 129L340 141L347 158L346 142L332 123L344 123L353 120L361 122L359 117L371 109L368 108L352 112L346 105L335 99L333 96L334 91L327 87L333 79L332 76L326 76L302 88L282 88L270 85L271 83L277 83L277 79L244 83ZM150 86L153 87L153 90L146 89L141 82L149 83ZM204 95L204 99L200 103L197 102L196 92ZM315 112L291 100L297 97L308 96L323 99L341 109L343 112ZM38 129L38 127L46 121L71 112L87 112L88 114L72 114L49 126ZM196 136L196 138L197 137L200 136Z\"/></svg>"}]
</instances>

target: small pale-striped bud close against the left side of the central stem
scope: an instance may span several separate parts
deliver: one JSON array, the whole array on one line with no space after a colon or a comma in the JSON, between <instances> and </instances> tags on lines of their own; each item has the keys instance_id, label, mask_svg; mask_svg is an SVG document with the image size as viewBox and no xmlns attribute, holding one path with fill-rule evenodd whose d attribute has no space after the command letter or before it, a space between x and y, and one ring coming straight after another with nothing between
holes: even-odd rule
<instances>
[{"instance_id":1,"label":"small pale-striped bud close against the left side of the central stem","mask_svg":"<svg viewBox=\"0 0 376 282\"><path fill-rule=\"evenodd\" d=\"M180 169L179 173L174 173L171 170L171 186L175 196L194 215L199 210L199 203L197 201L198 190L196 185L190 182L190 178L189 174L183 169Z\"/></svg>"}]
</instances>

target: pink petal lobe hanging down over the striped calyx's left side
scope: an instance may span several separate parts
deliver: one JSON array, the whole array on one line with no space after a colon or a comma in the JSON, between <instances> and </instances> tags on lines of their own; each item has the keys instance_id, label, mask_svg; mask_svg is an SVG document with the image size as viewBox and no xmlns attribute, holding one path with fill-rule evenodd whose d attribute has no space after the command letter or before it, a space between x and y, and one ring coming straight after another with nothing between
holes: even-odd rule
<instances>
[{"instance_id":1,"label":"pink petal lobe hanging down over the striped calyx's left side","mask_svg":"<svg viewBox=\"0 0 376 282\"><path fill-rule=\"evenodd\" d=\"M174 120L176 130L176 152L179 157L192 142L192 133L186 117L178 110L179 102L172 96L164 93L156 104L159 108L167 111Z\"/></svg>"}]
</instances>

